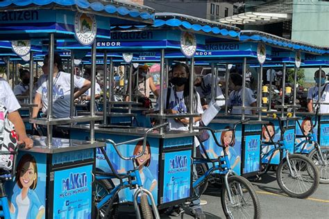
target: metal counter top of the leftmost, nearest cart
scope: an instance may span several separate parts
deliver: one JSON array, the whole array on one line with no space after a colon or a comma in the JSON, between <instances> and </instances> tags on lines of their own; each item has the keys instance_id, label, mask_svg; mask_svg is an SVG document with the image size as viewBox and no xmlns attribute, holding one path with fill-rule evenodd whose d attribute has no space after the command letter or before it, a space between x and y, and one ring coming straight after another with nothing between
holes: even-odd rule
<instances>
[{"instance_id":1,"label":"metal counter top of the leftmost, nearest cart","mask_svg":"<svg viewBox=\"0 0 329 219\"><path fill-rule=\"evenodd\" d=\"M74 139L59 139L53 138L51 146L47 146L47 137L31 136L33 139L33 148L20 150L26 150L30 152L38 152L44 154L56 154L60 152L69 152L74 150L84 150L88 148L100 148L105 146L104 142L96 141L80 141Z\"/></svg>"}]
</instances>

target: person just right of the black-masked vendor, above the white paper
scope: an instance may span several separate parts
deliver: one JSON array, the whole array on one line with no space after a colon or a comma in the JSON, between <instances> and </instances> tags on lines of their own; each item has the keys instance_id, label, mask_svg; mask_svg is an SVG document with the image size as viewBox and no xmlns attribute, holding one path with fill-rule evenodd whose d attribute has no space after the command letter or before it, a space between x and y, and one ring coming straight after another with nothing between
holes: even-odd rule
<instances>
[{"instance_id":1,"label":"person just right of the black-masked vendor, above the white paper","mask_svg":"<svg viewBox=\"0 0 329 219\"><path fill-rule=\"evenodd\" d=\"M219 80L217 80L219 82ZM201 99L205 99L204 104L202 104L203 110L208 109L208 105L211 101L211 89L212 89L212 74L208 73L207 75L203 77L196 77L194 80L194 86L195 90L199 93ZM225 105L225 100L223 93L221 91L221 87L218 85L216 87L216 93L217 96L215 97L216 105L218 107L221 107L222 105ZM202 101L201 101L202 102Z\"/></svg>"}]
</instances>

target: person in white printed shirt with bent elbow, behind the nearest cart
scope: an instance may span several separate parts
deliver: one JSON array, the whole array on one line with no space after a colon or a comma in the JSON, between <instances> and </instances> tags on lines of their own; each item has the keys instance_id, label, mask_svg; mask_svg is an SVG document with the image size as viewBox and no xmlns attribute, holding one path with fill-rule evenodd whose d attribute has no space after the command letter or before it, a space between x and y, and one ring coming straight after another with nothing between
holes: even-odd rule
<instances>
[{"instance_id":1,"label":"person in white printed shirt with bent elbow, behind the nearest cart","mask_svg":"<svg viewBox=\"0 0 329 219\"><path fill-rule=\"evenodd\" d=\"M55 118L66 118L70 116L71 103L71 75L62 71L62 58L58 53L54 54L53 73L49 73L48 55L44 57L42 71L44 75L37 81L37 91L34 103L38 107L33 108L33 118L37 117L39 109L42 107L44 114L48 113L48 80L53 76L53 116ZM74 87L78 90L74 93L74 99L84 94L90 88L90 81L79 76L74 76Z\"/></svg>"}]
</instances>

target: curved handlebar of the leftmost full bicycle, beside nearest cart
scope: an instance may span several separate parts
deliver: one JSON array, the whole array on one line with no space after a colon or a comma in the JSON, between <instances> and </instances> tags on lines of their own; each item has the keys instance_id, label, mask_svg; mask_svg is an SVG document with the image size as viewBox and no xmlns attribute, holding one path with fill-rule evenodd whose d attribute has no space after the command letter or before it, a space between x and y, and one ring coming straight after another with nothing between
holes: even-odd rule
<instances>
[{"instance_id":1,"label":"curved handlebar of the leftmost full bicycle, beside nearest cart","mask_svg":"<svg viewBox=\"0 0 329 219\"><path fill-rule=\"evenodd\" d=\"M146 139L147 139L147 135L149 134L149 132L151 132L151 131L153 131L157 128L161 128L163 126L166 126L166 125L168 125L168 123L163 123L161 125L156 125L153 128L150 128L149 130L147 130L143 134L143 137L140 137L140 138L137 138L137 139L132 139L132 140L124 141L124 142L120 142L120 143L115 143L115 141L113 141L112 139L106 139L106 143L111 143L112 144L112 146L115 148L115 151L117 152L119 157L121 157L121 159L124 159L124 160L137 159L138 157L142 157L142 155L144 155L145 148L146 148ZM117 146L121 146L121 145L124 145L124 144L127 144L127 143L133 143L133 142L136 142L136 141L142 141L142 140L143 140L143 150L138 155L133 155L133 156L130 156L130 157L126 157L126 156L122 155L121 152L119 151L119 149L117 148Z\"/></svg>"}]
</instances>

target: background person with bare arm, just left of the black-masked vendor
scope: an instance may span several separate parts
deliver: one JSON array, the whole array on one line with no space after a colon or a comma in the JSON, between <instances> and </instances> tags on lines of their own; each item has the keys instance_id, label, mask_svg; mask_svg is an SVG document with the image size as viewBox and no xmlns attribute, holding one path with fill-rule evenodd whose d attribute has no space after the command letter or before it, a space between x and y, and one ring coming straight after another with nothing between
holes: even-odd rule
<instances>
[{"instance_id":1,"label":"background person with bare arm, just left of the black-masked vendor","mask_svg":"<svg viewBox=\"0 0 329 219\"><path fill-rule=\"evenodd\" d=\"M153 78L149 73L149 66L144 64L144 66L138 67L138 86L136 85L136 77L133 77L133 95L137 98L149 98L150 91L153 92L155 97L158 97L158 91L155 87ZM126 101L129 101L129 96L126 97Z\"/></svg>"}]
</instances>

